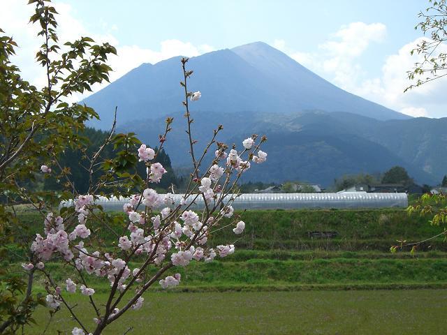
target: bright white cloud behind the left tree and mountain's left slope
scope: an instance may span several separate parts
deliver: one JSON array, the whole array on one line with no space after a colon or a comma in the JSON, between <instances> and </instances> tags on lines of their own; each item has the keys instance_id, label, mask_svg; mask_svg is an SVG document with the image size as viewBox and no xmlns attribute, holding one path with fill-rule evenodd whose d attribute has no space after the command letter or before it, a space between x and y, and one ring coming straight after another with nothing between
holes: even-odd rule
<instances>
[{"instance_id":1,"label":"bright white cloud behind the left tree and mountain's left slope","mask_svg":"<svg viewBox=\"0 0 447 335\"><path fill-rule=\"evenodd\" d=\"M8 10L0 11L1 28L8 35L12 35L19 48L16 50L17 54L13 57L13 61L22 70L22 75L37 86L45 84L45 73L43 68L38 66L34 60L38 47L42 44L42 40L36 38L38 27L33 24L27 24L29 17L34 13L34 6L27 6L25 1L17 0L3 0L4 8ZM138 45L119 45L119 41L113 35L118 27L113 24L109 26L106 22L99 22L105 34L95 34L94 31L89 31L80 20L77 20L73 15L73 8L67 3L53 3L59 15L57 21L59 26L57 28L59 40L66 42L73 41L81 36L89 36L93 38L96 43L108 42L117 47L117 56L109 57L109 64L113 69L110 73L110 81L113 82L117 78L122 77L129 70L140 66L142 63L158 63L163 59L168 59L175 56L193 57L200 54L211 52L214 47L203 44L193 45L189 42L181 40L170 39L163 40L160 43L159 50L150 50L139 47ZM94 85L93 91L98 91L107 84ZM71 101L79 101L89 94L75 95Z\"/></svg>"}]
</instances>

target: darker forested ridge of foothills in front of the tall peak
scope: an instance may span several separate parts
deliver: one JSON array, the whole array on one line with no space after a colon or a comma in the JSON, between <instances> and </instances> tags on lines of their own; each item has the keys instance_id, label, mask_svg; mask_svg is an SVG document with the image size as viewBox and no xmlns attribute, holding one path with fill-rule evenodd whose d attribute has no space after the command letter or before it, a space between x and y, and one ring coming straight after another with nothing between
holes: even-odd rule
<instances>
[{"instance_id":1,"label":"darker forested ridge of foothills in front of the tall peak","mask_svg":"<svg viewBox=\"0 0 447 335\"><path fill-rule=\"evenodd\" d=\"M196 152L203 152L212 129L223 124L217 140L240 147L252 133L268 135L264 149L268 161L251 165L242 181L302 180L329 186L343 174L384 172L400 165L411 177L425 184L437 184L446 174L447 138L441 129L445 119L380 121L346 112L307 111L294 114L256 112L192 112ZM191 165L189 143L182 113L173 114L173 131L164 146L173 166ZM240 120L240 121L239 121ZM219 122L218 122L219 121ZM416 126L425 123L425 127ZM129 122L119 131L134 131L140 140L156 144L164 118ZM203 130L206 131L203 131ZM424 139L424 140L421 140Z\"/></svg>"}]
</instances>

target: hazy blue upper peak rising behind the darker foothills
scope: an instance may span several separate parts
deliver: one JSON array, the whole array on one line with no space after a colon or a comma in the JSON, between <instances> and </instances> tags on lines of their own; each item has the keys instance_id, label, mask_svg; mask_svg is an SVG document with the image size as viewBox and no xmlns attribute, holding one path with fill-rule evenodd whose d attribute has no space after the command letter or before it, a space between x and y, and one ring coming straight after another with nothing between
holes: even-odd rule
<instances>
[{"instance_id":1,"label":"hazy blue upper peak rising behind the darker foothills","mask_svg":"<svg viewBox=\"0 0 447 335\"><path fill-rule=\"evenodd\" d=\"M117 124L156 118L182 110L180 58L142 64L85 99L108 129L118 106ZM283 52L257 42L209 52L189 60L190 91L201 91L196 110L211 112L293 113L304 110L351 112L379 120L409 119L386 107L339 89Z\"/></svg>"}]
</instances>

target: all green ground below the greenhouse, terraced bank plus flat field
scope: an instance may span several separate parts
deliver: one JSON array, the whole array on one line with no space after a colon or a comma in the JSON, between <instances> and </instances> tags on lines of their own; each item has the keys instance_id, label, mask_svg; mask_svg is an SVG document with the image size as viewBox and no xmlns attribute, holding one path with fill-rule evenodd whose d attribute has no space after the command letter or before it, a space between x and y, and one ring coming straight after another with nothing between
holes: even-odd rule
<instances>
[{"instance_id":1,"label":"all green ground below the greenhouse, terraced bank plus flat field","mask_svg":"<svg viewBox=\"0 0 447 335\"><path fill-rule=\"evenodd\" d=\"M177 288L151 288L141 310L129 311L103 334L444 334L446 242L422 244L413 256L408 250L389 252L397 240L439 233L428 218L402 209L247 211L242 217L242 237L234 241L224 230L210 241L234 241L234 255L173 269L168 274L182 274ZM27 213L23 219L30 234L38 231L40 218ZM112 243L107 232L96 233ZM8 259L0 265L18 273L22 251L13 244L7 248ZM57 281L68 276L60 264L45 267ZM38 277L36 290L44 292L43 285ZM103 303L108 283L95 277L89 285ZM87 297L69 298L92 329ZM47 308L39 307L35 319L37 325L25 327L24 334L43 334ZM71 334L75 326L61 308L45 334Z\"/></svg>"}]
</instances>

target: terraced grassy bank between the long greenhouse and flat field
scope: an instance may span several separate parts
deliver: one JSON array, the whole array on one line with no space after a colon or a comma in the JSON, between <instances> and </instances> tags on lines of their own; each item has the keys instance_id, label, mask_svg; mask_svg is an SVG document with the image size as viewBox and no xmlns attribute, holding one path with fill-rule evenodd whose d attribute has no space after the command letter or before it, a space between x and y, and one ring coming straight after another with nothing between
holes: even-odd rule
<instances>
[{"instance_id":1,"label":"terraced grassy bank between the long greenhouse and flat field","mask_svg":"<svg viewBox=\"0 0 447 335\"><path fill-rule=\"evenodd\" d=\"M122 215L122 214L117 214ZM440 228L427 218L408 216L402 209L247 211L242 236L230 229L210 240L211 245L232 241L235 255L204 264L192 262L176 268L182 274L178 290L307 290L372 288L441 288L447 285L447 244L442 239L424 244L415 257L391 254L397 239L420 240ZM38 231L41 218L23 214L30 232ZM124 227L115 223L117 229ZM335 231L337 237L311 238L309 231ZM105 244L113 243L107 230L98 230ZM10 260L20 262L21 251L10 246ZM131 264L137 267L138 263ZM65 278L61 265L53 267L57 279ZM96 288L108 283L92 278Z\"/></svg>"}]
</instances>

